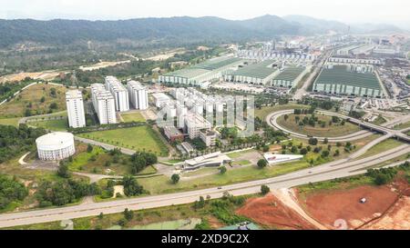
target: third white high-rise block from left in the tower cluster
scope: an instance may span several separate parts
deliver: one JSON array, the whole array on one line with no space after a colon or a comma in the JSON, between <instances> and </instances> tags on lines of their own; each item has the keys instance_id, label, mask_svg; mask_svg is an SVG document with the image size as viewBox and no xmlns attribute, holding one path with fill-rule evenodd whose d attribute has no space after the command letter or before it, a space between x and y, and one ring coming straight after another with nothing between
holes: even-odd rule
<instances>
[{"instance_id":1,"label":"third white high-rise block from left in the tower cluster","mask_svg":"<svg viewBox=\"0 0 410 248\"><path fill-rule=\"evenodd\" d=\"M106 89L114 96L116 111L124 112L129 110L128 91L126 87L112 75L106 76Z\"/></svg>"}]
</instances>

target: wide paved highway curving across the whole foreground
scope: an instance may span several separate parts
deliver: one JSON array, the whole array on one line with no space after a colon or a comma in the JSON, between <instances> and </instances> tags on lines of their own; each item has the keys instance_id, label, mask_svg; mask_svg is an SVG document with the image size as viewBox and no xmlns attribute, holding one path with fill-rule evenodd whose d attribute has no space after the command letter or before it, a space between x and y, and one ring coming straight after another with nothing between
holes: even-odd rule
<instances>
[{"instance_id":1,"label":"wide paved highway curving across the whole foreground","mask_svg":"<svg viewBox=\"0 0 410 248\"><path fill-rule=\"evenodd\" d=\"M259 193L261 190L261 184L267 184L272 189L290 188L301 184L331 180L354 174L363 174L369 166L380 164L402 154L409 153L410 145L404 144L400 146L399 149L386 151L382 154L377 154L357 161L336 161L269 179L256 180L241 184L231 184L223 186L221 189L214 187L190 192L145 196L105 203L87 203L76 206L21 213L4 213L0 214L0 227L61 221L86 216L95 216L99 213L119 213L124 211L125 208L130 210L140 210L172 204L192 203L198 200L200 196L210 195L211 198L219 198L225 191L229 191L233 195ZM392 164L390 164L390 166L391 165Z\"/></svg>"}]
</instances>

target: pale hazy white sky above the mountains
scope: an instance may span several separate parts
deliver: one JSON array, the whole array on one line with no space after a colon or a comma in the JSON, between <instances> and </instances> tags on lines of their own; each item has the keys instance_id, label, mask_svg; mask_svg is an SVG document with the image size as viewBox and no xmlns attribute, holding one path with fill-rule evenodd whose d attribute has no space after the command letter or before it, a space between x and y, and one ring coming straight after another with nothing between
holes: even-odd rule
<instances>
[{"instance_id":1,"label":"pale hazy white sky above the mountains","mask_svg":"<svg viewBox=\"0 0 410 248\"><path fill-rule=\"evenodd\" d=\"M0 18L128 19L310 15L345 23L410 25L409 0L0 0Z\"/></svg>"}]
</instances>

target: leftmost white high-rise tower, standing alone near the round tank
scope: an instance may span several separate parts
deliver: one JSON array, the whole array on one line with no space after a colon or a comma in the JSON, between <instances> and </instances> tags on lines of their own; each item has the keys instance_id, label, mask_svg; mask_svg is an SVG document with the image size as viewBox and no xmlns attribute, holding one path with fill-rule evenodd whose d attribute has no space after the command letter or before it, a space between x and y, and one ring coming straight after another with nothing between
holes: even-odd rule
<instances>
[{"instance_id":1,"label":"leftmost white high-rise tower, standing alone near the round tank","mask_svg":"<svg viewBox=\"0 0 410 248\"><path fill-rule=\"evenodd\" d=\"M86 126L86 114L84 113L83 95L79 90L71 90L66 93L68 126L77 128Z\"/></svg>"}]
</instances>

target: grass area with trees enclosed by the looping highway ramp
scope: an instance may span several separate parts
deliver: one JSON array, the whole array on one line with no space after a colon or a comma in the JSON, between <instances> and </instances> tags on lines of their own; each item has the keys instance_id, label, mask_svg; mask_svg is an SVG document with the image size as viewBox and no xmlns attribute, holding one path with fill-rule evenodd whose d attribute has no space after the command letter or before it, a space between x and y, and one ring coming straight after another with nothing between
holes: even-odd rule
<instances>
[{"instance_id":1,"label":"grass area with trees enclosed by the looping highway ramp","mask_svg":"<svg viewBox=\"0 0 410 248\"><path fill-rule=\"evenodd\" d=\"M319 137L338 137L338 136L343 136L347 134L353 134L355 132L358 132L362 130L359 126L356 124L351 124L346 122L345 124L332 124L329 125L329 122L332 120L331 116L328 115L323 115L323 114L315 114L316 117L320 121L323 121L326 123L325 127L321 127L319 124L315 124L315 126L311 126L309 124L305 124L302 127L295 121L295 117L299 116L300 120L303 119L304 116L310 117L311 114L288 114L289 119L285 121L284 115L280 116L278 118L278 124L280 124L282 127L298 133L298 134L306 134L306 135L312 135L312 136L319 136Z\"/></svg>"}]
</instances>

